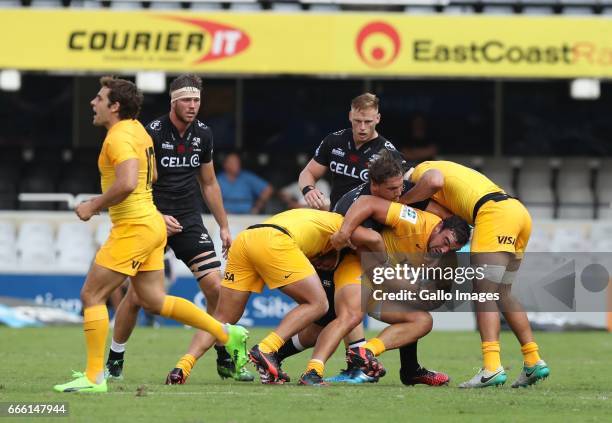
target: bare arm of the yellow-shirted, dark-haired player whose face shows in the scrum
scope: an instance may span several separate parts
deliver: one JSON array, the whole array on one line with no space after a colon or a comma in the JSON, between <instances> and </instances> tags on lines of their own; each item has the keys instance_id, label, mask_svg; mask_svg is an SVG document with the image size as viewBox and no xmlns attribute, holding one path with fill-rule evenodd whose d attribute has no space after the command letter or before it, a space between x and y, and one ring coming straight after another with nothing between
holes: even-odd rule
<instances>
[{"instance_id":1,"label":"bare arm of the yellow-shirted, dark-haired player whose face shows in the scrum","mask_svg":"<svg viewBox=\"0 0 612 423\"><path fill-rule=\"evenodd\" d=\"M353 205L349 208L346 216L344 216L344 222L340 230L331 237L331 243L336 249L341 249L351 246L349 239L353 231L364 222L365 220L372 218L380 223L387 223L387 214L391 202L380 197L373 195L362 195L359 197ZM352 248L355 246L352 245Z\"/></svg>"}]
</instances>

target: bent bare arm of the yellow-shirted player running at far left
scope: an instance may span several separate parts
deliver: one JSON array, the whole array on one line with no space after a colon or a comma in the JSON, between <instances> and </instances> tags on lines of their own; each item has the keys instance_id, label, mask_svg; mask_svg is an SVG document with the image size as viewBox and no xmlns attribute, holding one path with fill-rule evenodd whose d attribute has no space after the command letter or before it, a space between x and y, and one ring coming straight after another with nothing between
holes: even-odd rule
<instances>
[{"instance_id":1,"label":"bent bare arm of the yellow-shirted player running at far left","mask_svg":"<svg viewBox=\"0 0 612 423\"><path fill-rule=\"evenodd\" d=\"M75 212L79 219L87 221L101 210L119 204L138 186L138 159L127 159L115 165L115 182L102 195L79 204Z\"/></svg>"}]
</instances>

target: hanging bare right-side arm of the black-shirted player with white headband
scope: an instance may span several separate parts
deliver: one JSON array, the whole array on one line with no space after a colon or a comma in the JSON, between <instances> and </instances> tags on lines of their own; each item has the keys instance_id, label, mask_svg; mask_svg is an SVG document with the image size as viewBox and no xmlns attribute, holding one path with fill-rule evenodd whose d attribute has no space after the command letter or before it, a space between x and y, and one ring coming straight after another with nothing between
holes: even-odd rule
<instances>
[{"instance_id":1,"label":"hanging bare right-side arm of the black-shirted player with white headband","mask_svg":"<svg viewBox=\"0 0 612 423\"><path fill-rule=\"evenodd\" d=\"M197 176L202 198L214 216L217 225L219 225L219 236L221 237L222 250L225 255L232 244L232 235L229 230L227 213L225 213L225 208L223 207L221 188L219 187L219 182L217 182L212 160L200 165L200 172L198 172Z\"/></svg>"}]
</instances>

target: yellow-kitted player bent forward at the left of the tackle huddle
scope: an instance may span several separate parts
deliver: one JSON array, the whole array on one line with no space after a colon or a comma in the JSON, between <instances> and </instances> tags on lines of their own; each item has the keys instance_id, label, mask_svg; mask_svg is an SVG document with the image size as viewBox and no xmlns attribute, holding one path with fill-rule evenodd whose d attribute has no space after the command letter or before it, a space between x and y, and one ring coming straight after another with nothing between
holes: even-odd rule
<instances>
[{"instance_id":1,"label":"yellow-kitted player bent forward at the left of the tackle huddle","mask_svg":"<svg viewBox=\"0 0 612 423\"><path fill-rule=\"evenodd\" d=\"M310 259L333 251L329 238L340 229L342 220L341 215L326 211L289 210L240 232L230 247L215 318L237 322L251 292L261 292L264 283L270 289L280 289L298 304L249 352L262 383L289 381L277 357L279 348L327 311L327 297ZM371 229L357 228L351 239L368 251L384 253L380 234ZM214 341L207 334L198 337L200 349L195 358ZM191 351L195 342L194 337ZM191 369L187 370L185 373Z\"/></svg>"}]
</instances>

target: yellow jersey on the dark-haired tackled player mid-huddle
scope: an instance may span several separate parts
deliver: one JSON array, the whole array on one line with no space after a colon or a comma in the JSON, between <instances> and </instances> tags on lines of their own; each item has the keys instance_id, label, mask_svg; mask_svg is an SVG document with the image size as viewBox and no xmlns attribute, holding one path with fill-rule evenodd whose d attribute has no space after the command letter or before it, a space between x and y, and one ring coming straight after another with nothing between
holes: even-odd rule
<instances>
[{"instance_id":1,"label":"yellow jersey on the dark-haired tackled player mid-huddle","mask_svg":"<svg viewBox=\"0 0 612 423\"><path fill-rule=\"evenodd\" d=\"M426 253L431 232L441 219L432 213L391 203L381 235L387 254Z\"/></svg>"}]
</instances>

